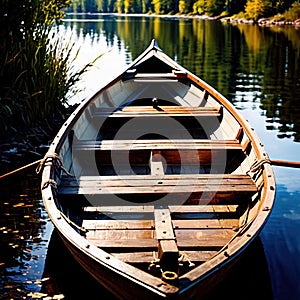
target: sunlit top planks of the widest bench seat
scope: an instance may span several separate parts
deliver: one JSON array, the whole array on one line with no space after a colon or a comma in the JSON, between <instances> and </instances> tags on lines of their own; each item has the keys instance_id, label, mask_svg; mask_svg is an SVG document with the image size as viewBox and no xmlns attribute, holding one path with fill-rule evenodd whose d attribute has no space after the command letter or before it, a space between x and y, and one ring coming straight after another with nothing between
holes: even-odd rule
<instances>
[{"instance_id":1,"label":"sunlit top planks of the widest bench seat","mask_svg":"<svg viewBox=\"0 0 300 300\"><path fill-rule=\"evenodd\" d=\"M205 176L207 175L207 176ZM255 193L253 180L247 175L192 174L164 175L161 179L151 175L82 176L78 182L61 182L60 194L153 194L153 193Z\"/></svg>"}]
</instances>

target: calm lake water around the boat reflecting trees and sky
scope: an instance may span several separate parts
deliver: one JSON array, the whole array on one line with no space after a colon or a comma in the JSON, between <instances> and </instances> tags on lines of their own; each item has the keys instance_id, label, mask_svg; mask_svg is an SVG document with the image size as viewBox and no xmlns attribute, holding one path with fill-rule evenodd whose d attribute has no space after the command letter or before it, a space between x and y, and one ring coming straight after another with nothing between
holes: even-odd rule
<instances>
[{"instance_id":1,"label":"calm lake water around the boat reflecting trees and sky","mask_svg":"<svg viewBox=\"0 0 300 300\"><path fill-rule=\"evenodd\" d=\"M74 68L99 54L80 102L156 38L179 64L241 110L271 159L300 161L300 32L197 19L67 16L55 36L80 48ZM274 167L276 202L259 239L209 299L300 299L300 169ZM34 172L0 182L0 298L113 299L61 247ZM100 296L101 295L101 296ZM51 299L50 297L48 299Z\"/></svg>"}]
</instances>

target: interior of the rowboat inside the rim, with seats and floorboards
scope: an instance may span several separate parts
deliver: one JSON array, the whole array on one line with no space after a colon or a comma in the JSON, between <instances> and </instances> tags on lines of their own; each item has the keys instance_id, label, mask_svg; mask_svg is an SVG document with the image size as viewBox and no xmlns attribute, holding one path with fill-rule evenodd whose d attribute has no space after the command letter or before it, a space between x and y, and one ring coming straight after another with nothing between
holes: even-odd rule
<instances>
[{"instance_id":1,"label":"interior of the rowboat inside the rim, with seats and floorboards","mask_svg":"<svg viewBox=\"0 0 300 300\"><path fill-rule=\"evenodd\" d=\"M57 205L121 261L176 280L224 249L257 213L262 172L238 120L188 74L129 69L74 118ZM250 176L251 175L251 176Z\"/></svg>"}]
</instances>

